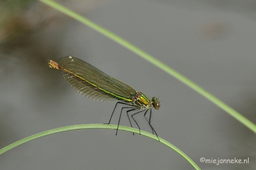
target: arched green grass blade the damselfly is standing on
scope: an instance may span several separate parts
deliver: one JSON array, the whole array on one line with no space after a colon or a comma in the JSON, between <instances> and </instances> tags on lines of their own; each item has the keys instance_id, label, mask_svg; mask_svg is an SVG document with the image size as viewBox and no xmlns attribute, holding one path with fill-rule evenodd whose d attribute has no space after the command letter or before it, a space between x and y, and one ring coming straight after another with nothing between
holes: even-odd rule
<instances>
[{"instance_id":1,"label":"arched green grass blade the damselfly is standing on","mask_svg":"<svg viewBox=\"0 0 256 170\"><path fill-rule=\"evenodd\" d=\"M37 133L35 135L29 136L27 138L21 139L11 145L8 145L6 147L4 147L3 149L0 150L0 154L16 147L19 146L21 144L24 144L28 141L37 139L37 138L41 138L43 136L47 136L47 135L51 135L54 133L59 133L59 132L63 132L63 131L72 131L72 130L76 130L76 129L117 129L117 125L113 125L113 124L79 124L79 125L73 125L73 126L66 126L66 127L61 127L61 128L57 128L57 129L52 129L49 131L44 131L41 133ZM149 138L155 139L158 141L158 138L156 137L156 135L153 135L151 133L148 133L146 131L140 131L138 129L134 129L131 127L126 127L126 126L119 126L118 130L122 130L122 131L129 131L129 132L133 132L133 133L137 133L137 134L141 134L144 136L147 136ZM113 135L114 136L114 135ZM183 153L182 151L180 151L180 149L178 149L177 147L175 147L174 145L170 144L169 142L167 142L166 140L159 138L159 142L163 143L166 146L169 146L170 148L172 148L174 151L178 152L183 158L185 158L195 169L200 170L200 168L195 164L195 162L190 159L185 153Z\"/></svg>"}]
</instances>

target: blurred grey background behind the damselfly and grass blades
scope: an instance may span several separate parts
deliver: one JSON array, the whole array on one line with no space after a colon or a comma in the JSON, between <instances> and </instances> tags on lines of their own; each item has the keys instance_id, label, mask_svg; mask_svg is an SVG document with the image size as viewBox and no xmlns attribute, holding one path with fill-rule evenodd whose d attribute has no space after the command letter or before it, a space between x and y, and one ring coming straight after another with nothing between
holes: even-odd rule
<instances>
[{"instance_id":1,"label":"blurred grey background behind the damselfly and grass blades","mask_svg":"<svg viewBox=\"0 0 256 170\"><path fill-rule=\"evenodd\" d=\"M255 0L58 2L155 56L256 123ZM159 97L161 107L153 109L158 136L201 169L255 169L256 134L148 61L40 2L3 1L0 11L0 148L58 127L108 123L115 103L82 96L47 65L47 60L73 56L149 98ZM0 155L0 169L194 169L153 139L115 133L90 129L39 138ZM249 158L249 163L206 164L202 157Z\"/></svg>"}]
</instances>

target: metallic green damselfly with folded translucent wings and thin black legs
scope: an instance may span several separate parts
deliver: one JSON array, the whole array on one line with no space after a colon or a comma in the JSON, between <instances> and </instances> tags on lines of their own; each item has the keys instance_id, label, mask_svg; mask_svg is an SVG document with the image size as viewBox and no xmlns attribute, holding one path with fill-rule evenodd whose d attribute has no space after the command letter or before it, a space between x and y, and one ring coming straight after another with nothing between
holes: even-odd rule
<instances>
[{"instance_id":1,"label":"metallic green damselfly with folded translucent wings and thin black legs","mask_svg":"<svg viewBox=\"0 0 256 170\"><path fill-rule=\"evenodd\" d=\"M62 57L60 58L60 60L58 60L58 63L49 60L48 64L51 68L60 70L63 77L72 87L74 87L79 93L90 99L101 102L117 102L116 107L118 104L128 105L129 107L122 108L122 111L123 109L128 109L126 111L127 116L129 112L139 110L137 114L145 111L144 117L146 118L146 114L149 111L150 118L149 120L146 118L146 120L148 121L148 124L150 125L153 134L156 133L151 126L152 107L154 107L156 110L158 110L160 107L160 104L156 97L153 97L150 100L140 91L135 91L134 89L132 89L131 86L125 84L124 82L108 76L107 74L100 71L98 68L75 57ZM112 116L114 114L114 111L112 113ZM136 115L136 113L132 114L132 118L134 115ZM130 117L128 116L128 118L131 124ZM134 118L133 120L135 121ZM137 124L136 121L135 123Z\"/></svg>"}]
</instances>

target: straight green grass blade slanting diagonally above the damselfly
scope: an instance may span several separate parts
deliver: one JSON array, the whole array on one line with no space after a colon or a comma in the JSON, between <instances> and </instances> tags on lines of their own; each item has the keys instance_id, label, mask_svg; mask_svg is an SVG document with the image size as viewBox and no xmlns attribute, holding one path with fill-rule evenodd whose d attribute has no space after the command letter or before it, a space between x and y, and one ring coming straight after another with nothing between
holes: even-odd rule
<instances>
[{"instance_id":1,"label":"straight green grass blade slanting diagonally above the damselfly","mask_svg":"<svg viewBox=\"0 0 256 170\"><path fill-rule=\"evenodd\" d=\"M91 27L95 31L98 31L101 34L105 35L109 39L112 39L113 41L117 42L118 44L120 44L120 45L124 46L125 48L131 50L132 52L138 54L140 57L144 58L145 60L148 60L149 62L154 64L156 67L159 67L160 69L164 70L166 73L172 75L176 79L178 79L181 82L183 82L184 84L186 84L188 87L194 89L196 92L198 92L199 94L201 94L202 96L204 96L205 98L210 100L212 103L216 104L218 107L220 107L221 109L226 111L229 115L231 115L232 117L237 119L239 122L244 124L246 127L251 129L254 133L256 133L256 125L253 124L250 120L245 118L243 115L238 113L236 110L229 107L227 104L222 102L217 97L215 97L212 94L210 94L209 92L205 91L203 88L198 86L193 81L189 80L187 77L185 77L182 74L178 73L177 71L173 70L171 67L169 67L166 64L162 63L161 61L157 60L156 58L149 55L148 53L142 51L138 47L132 45L130 42L122 39L121 37L117 36L116 34L102 28L101 26L93 23L89 19L84 18L83 16L77 14L76 12L71 11L70 9L68 9L68 8L66 8L66 7L64 7L64 6L54 2L52 0L39 0L39 1L41 1L41 2L51 6L52 8L54 8L54 9L56 9L56 10L58 10L58 11L64 13L64 14L76 19L77 21L80 21L81 23Z\"/></svg>"}]
</instances>

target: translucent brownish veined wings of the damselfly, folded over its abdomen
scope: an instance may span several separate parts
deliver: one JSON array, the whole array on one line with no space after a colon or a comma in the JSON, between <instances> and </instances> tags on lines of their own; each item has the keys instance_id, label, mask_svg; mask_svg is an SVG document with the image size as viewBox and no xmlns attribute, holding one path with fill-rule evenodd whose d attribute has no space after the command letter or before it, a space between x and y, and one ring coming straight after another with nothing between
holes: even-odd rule
<instances>
[{"instance_id":1,"label":"translucent brownish veined wings of the damselfly, folded over its abdomen","mask_svg":"<svg viewBox=\"0 0 256 170\"><path fill-rule=\"evenodd\" d=\"M58 64L68 83L90 99L101 102L126 101L137 93L131 86L75 57L62 57Z\"/></svg>"}]
</instances>

